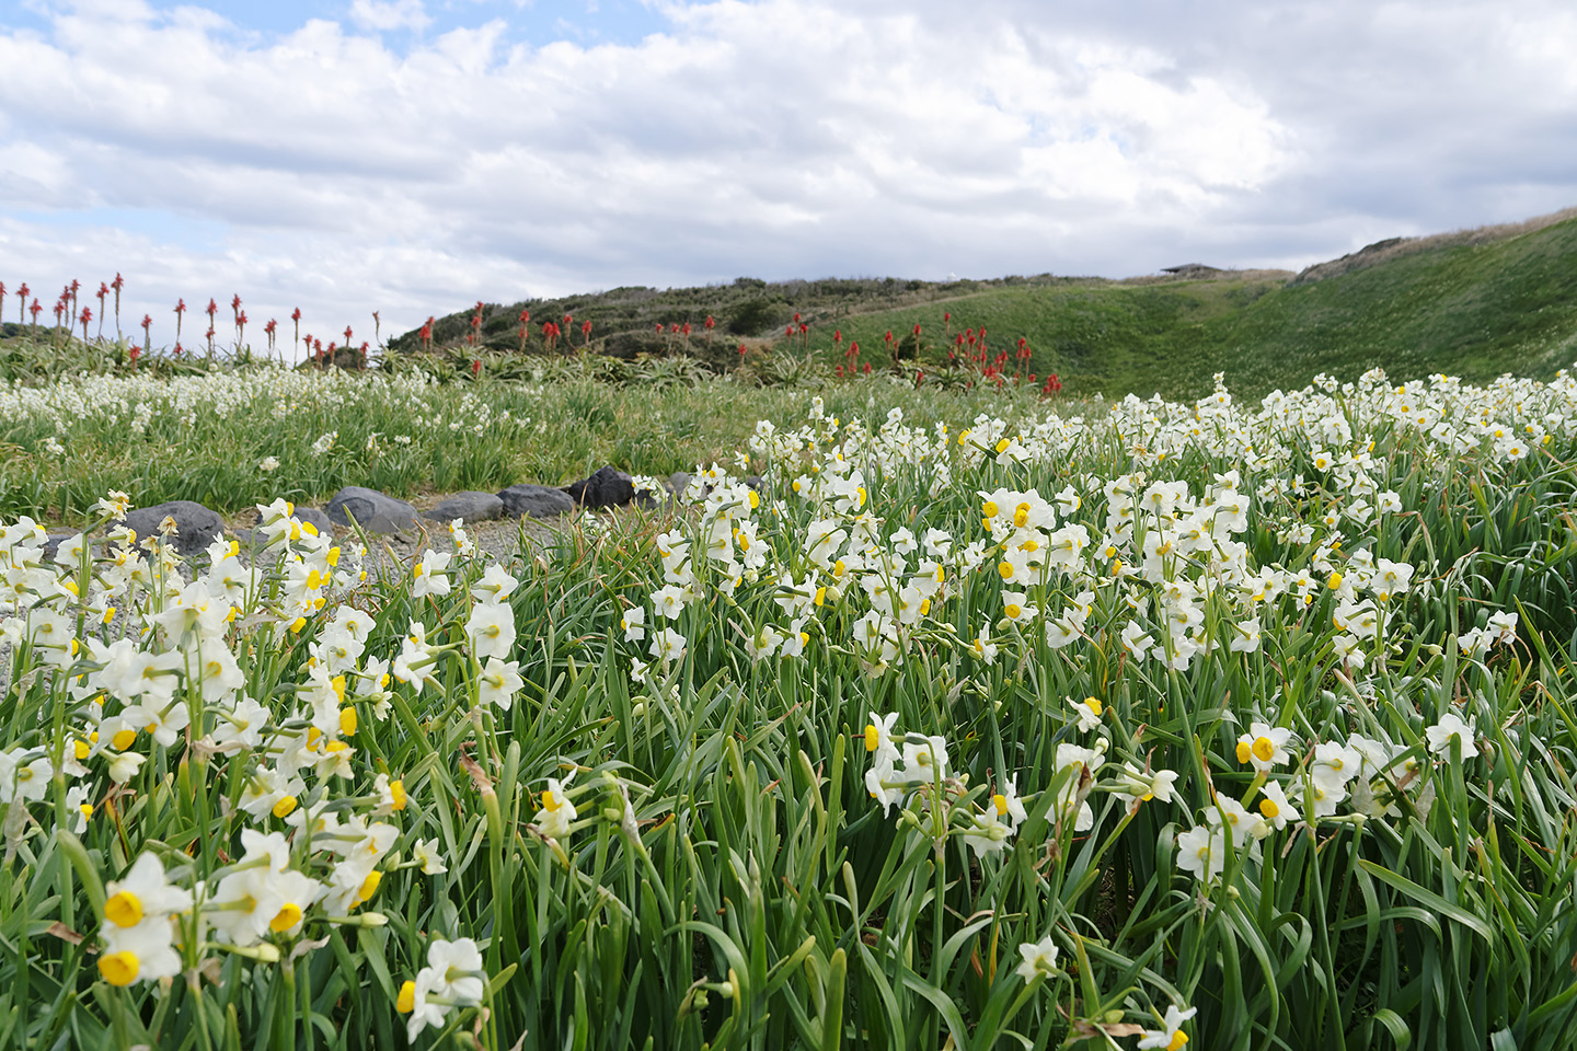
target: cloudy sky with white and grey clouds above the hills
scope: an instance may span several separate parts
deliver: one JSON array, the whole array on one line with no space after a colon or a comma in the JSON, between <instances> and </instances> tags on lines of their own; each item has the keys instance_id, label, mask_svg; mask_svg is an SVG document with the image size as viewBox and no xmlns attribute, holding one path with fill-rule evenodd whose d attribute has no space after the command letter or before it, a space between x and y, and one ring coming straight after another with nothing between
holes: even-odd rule
<instances>
[{"instance_id":1,"label":"cloudy sky with white and grey clouds above the hills","mask_svg":"<svg viewBox=\"0 0 1577 1051\"><path fill-rule=\"evenodd\" d=\"M1299 268L1577 205L1572 55L1569 0L0 0L5 320Z\"/></svg>"}]
</instances>

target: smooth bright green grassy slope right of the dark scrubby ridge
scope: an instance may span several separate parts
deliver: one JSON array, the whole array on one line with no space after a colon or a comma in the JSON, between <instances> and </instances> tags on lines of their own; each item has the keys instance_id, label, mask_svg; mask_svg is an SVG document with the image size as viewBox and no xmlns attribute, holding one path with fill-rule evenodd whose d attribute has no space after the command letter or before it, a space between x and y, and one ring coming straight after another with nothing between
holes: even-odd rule
<instances>
[{"instance_id":1,"label":"smooth bright green grassy slope right of the dark scrubby ridge","mask_svg":"<svg viewBox=\"0 0 1577 1051\"><path fill-rule=\"evenodd\" d=\"M919 323L940 344L940 306L848 318L844 337L880 351L888 329ZM1235 391L1263 394L1374 366L1396 377L1550 377L1577 359L1577 219L1309 284L992 288L946 309L954 326L984 325L997 350L1027 337L1031 370L1057 370L1080 392L1194 397L1225 372ZM811 347L831 351L831 332Z\"/></svg>"}]
</instances>

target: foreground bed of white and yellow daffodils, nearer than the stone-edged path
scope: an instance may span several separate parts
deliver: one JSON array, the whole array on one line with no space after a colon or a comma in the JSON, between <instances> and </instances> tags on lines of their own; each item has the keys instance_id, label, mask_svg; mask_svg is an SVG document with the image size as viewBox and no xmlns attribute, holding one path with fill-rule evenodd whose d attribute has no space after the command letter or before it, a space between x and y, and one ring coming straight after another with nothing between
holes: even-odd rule
<instances>
[{"instance_id":1,"label":"foreground bed of white and yellow daffodils, nearer than the stone-edged path","mask_svg":"<svg viewBox=\"0 0 1577 1051\"><path fill-rule=\"evenodd\" d=\"M815 400L511 564L11 523L0 1038L1568 1046L1574 440Z\"/></svg>"}]
</instances>

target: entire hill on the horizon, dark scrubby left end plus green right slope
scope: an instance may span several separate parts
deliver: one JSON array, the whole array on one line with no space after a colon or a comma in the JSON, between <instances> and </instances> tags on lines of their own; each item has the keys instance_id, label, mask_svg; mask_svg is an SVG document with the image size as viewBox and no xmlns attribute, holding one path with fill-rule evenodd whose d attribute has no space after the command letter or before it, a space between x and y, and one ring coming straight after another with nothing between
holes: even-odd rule
<instances>
[{"instance_id":1,"label":"entire hill on the horizon, dark scrubby left end plus green right slope","mask_svg":"<svg viewBox=\"0 0 1577 1051\"><path fill-rule=\"evenodd\" d=\"M1023 372L1058 372L1069 394L1197 397L1210 391L1214 372L1224 372L1235 391L1263 394L1303 386L1320 372L1348 380L1374 366L1396 378L1550 377L1577 361L1577 213L1385 241L1298 277L1214 271L1203 279L1126 282L1049 274L951 284L740 279L713 288L615 290L486 307L483 342L498 353L517 347L513 318L520 309L531 310L533 323L563 312L577 325L593 320L593 350L632 356L684 348L719 366L741 337L776 344L782 353L784 325L795 314L811 325L812 355L836 364L853 340L861 361L875 367L888 361L888 331L904 340L919 325L919 362L937 370L954 332L986 326L994 355L1027 339L1031 358ZM708 314L718 328L703 340ZM470 317L437 323L437 340L462 336ZM686 320L689 340L656 334L658 323ZM836 345L834 331L842 334ZM394 344L413 345L413 334ZM528 347L541 350L541 337L533 334Z\"/></svg>"}]
</instances>

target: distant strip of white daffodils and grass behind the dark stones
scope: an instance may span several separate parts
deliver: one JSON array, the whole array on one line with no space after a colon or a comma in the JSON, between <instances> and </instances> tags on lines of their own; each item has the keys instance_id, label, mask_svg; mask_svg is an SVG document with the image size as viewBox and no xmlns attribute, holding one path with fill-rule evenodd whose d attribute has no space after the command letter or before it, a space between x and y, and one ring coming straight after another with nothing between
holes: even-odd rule
<instances>
[{"instance_id":1,"label":"distant strip of white daffodils and grass behind the dark stones","mask_svg":"<svg viewBox=\"0 0 1577 1051\"><path fill-rule=\"evenodd\" d=\"M110 490L137 506L233 512L276 496L322 503L342 485L394 496L560 485L604 463L667 477L729 462L757 419L811 397L705 370L673 378L664 361L645 381L612 384L593 378L602 364L569 361L539 383L265 366L0 389L0 515L74 522ZM825 394L845 416L880 397L924 422L1035 403L1028 391L915 391L885 375Z\"/></svg>"}]
</instances>

